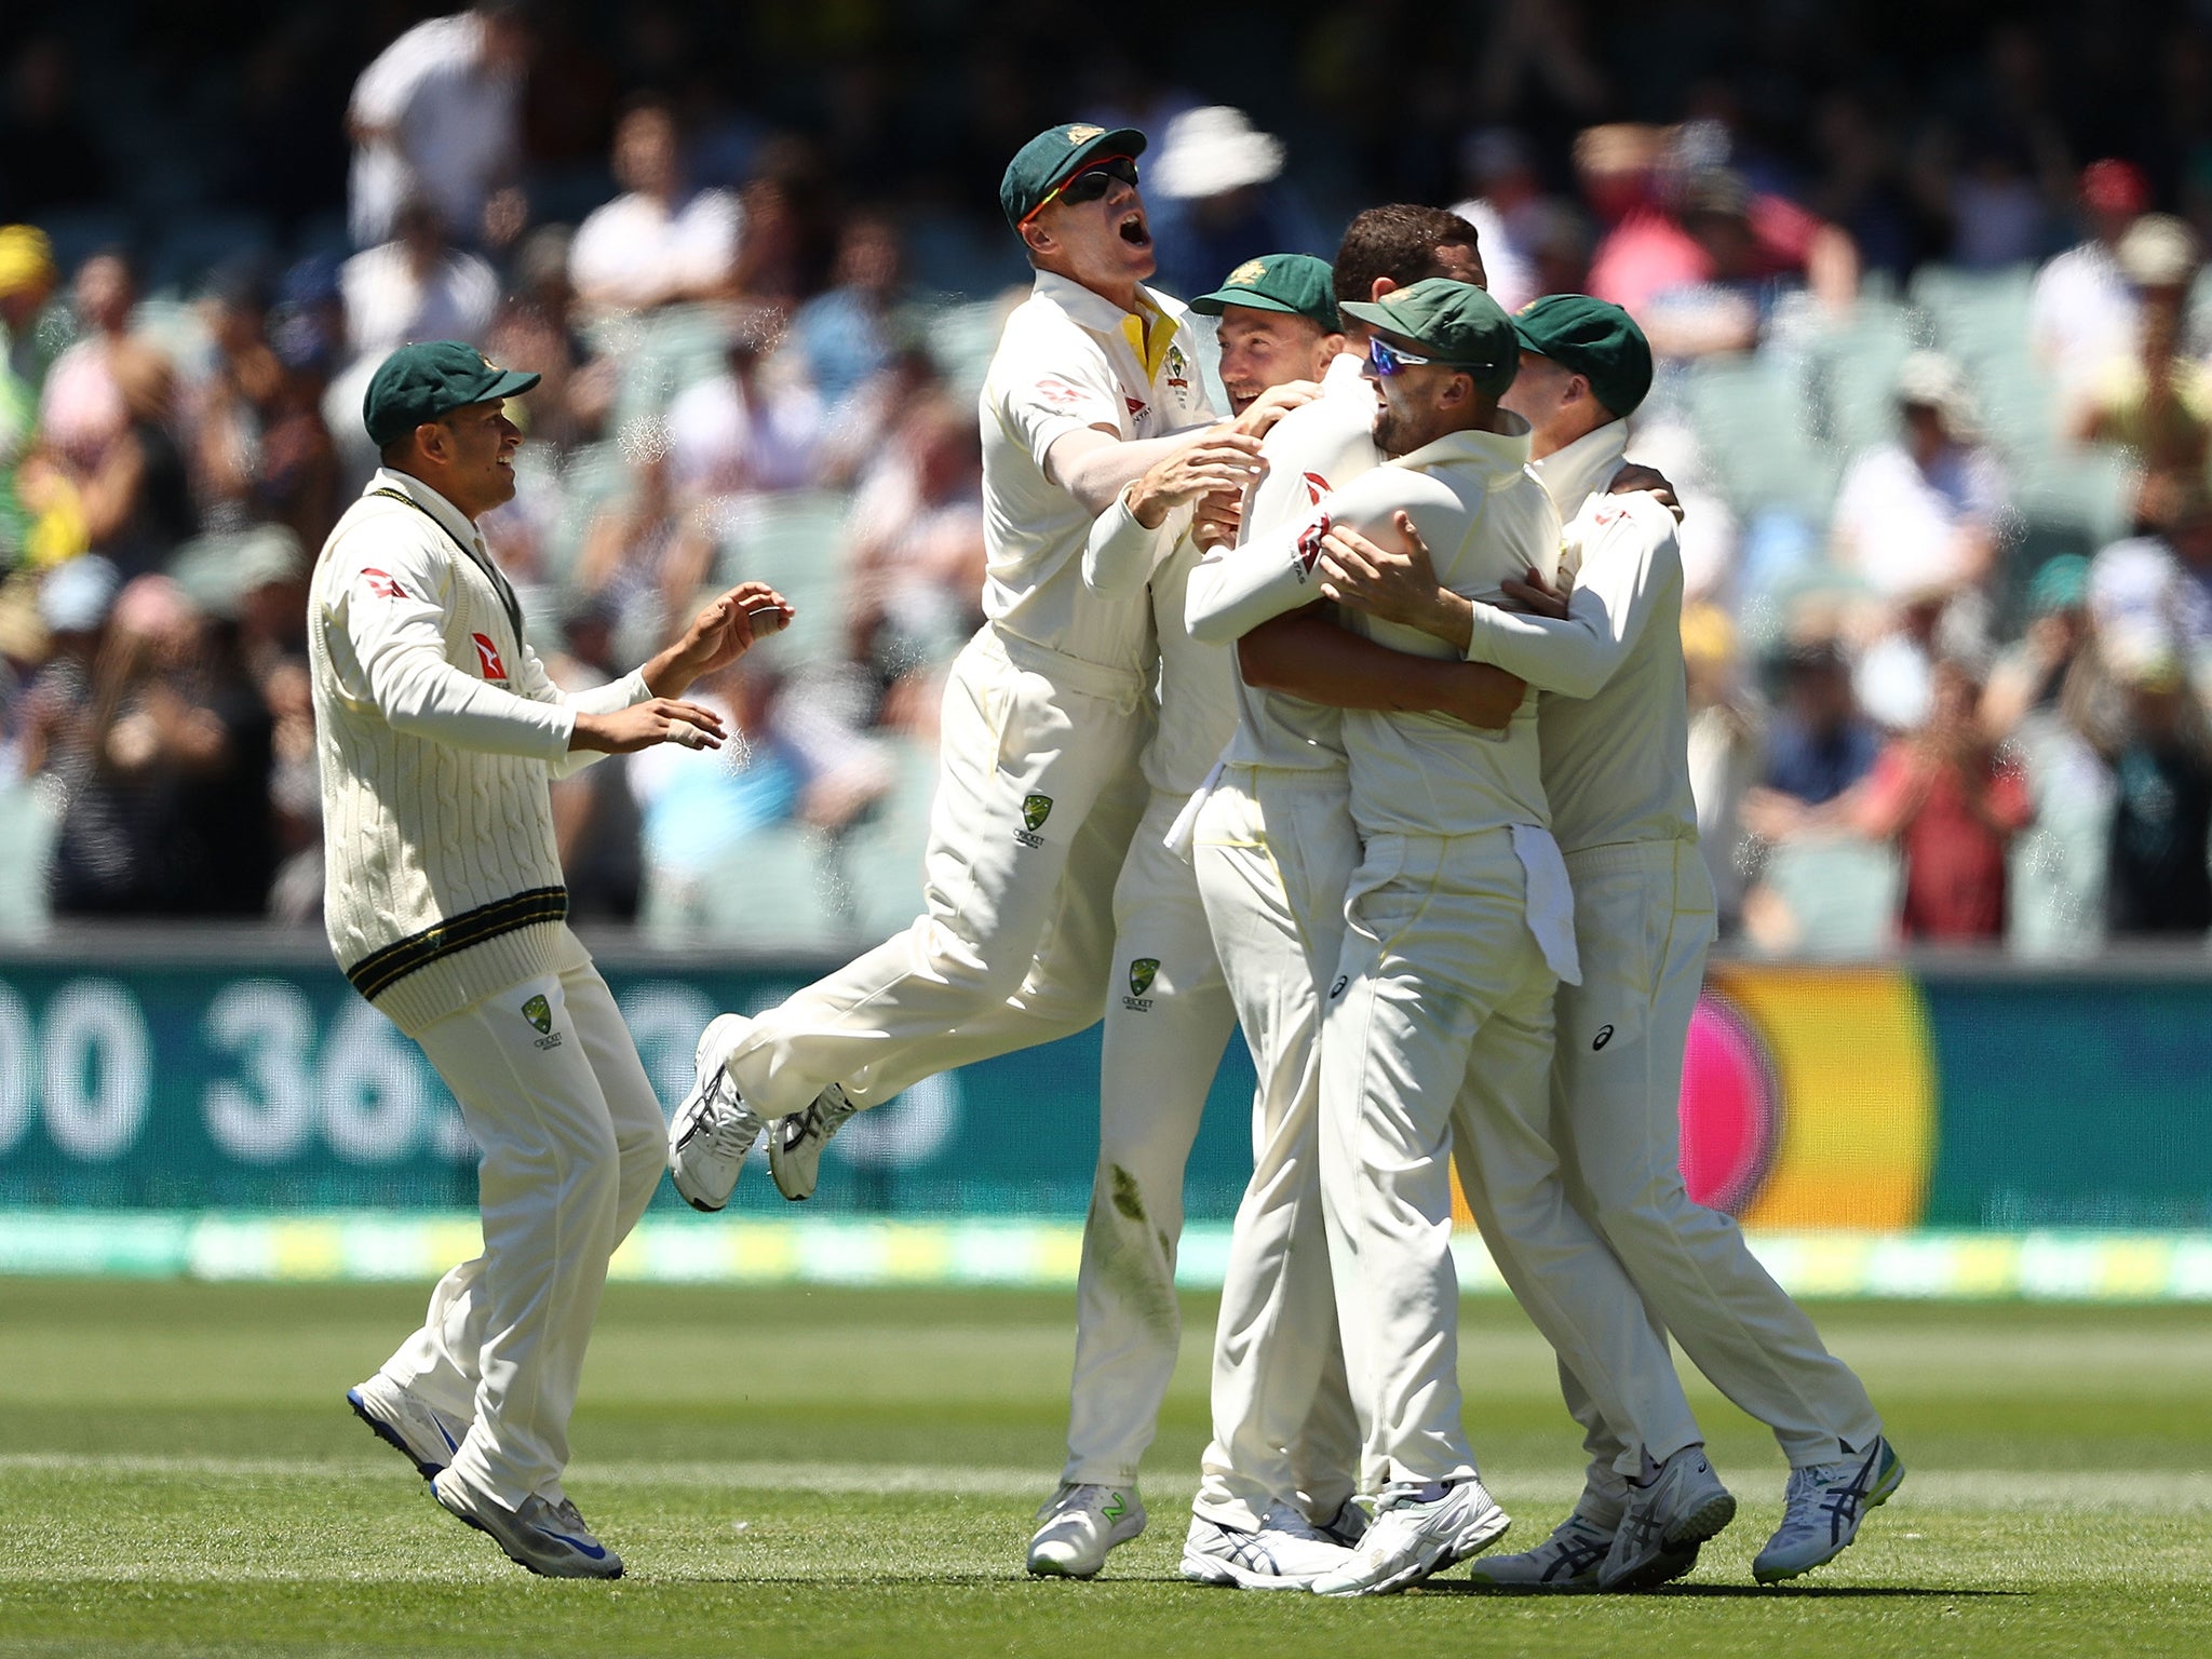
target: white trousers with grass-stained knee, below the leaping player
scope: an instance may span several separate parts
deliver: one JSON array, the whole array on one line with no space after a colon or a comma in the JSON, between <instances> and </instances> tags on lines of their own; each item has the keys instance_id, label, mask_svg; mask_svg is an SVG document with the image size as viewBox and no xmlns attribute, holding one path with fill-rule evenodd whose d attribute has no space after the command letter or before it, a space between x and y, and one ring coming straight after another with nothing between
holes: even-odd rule
<instances>
[{"instance_id":1,"label":"white trousers with grass-stained knee, below the leaping player","mask_svg":"<svg viewBox=\"0 0 2212 1659\"><path fill-rule=\"evenodd\" d=\"M1075 1279L1068 1482L1135 1482L1159 1427L1183 1334L1175 1301L1183 1166L1237 1024L1197 876L1166 845L1183 801L1152 794L1113 894L1099 1164Z\"/></svg>"}]
</instances>

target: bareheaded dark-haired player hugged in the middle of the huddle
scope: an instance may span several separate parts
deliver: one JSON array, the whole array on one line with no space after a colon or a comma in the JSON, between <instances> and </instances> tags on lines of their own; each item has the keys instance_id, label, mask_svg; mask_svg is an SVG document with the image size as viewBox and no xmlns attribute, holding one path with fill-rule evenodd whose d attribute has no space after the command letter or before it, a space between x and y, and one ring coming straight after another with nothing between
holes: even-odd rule
<instances>
[{"instance_id":1,"label":"bareheaded dark-haired player hugged in the middle of the huddle","mask_svg":"<svg viewBox=\"0 0 2212 1659\"><path fill-rule=\"evenodd\" d=\"M1436 208L1369 208L1338 246L1334 292L1338 301L1376 299L1436 274L1480 283L1473 226ZM1345 330L1347 341L1365 343L1365 323L1347 319ZM1267 434L1265 473L1243 511L1248 540L1303 520L1334 484L1380 460L1363 365L1363 354L1340 354L1323 396ZM1194 624L1212 626L1228 573L1230 562L1212 557L1192 575ZM1250 648L1245 639L1241 650ZM1498 726L1522 692L1495 670L1405 657L1327 624L1294 641L1294 655L1325 672L1336 703L1433 708ZM1358 838L1345 810L1338 708L1263 690L1250 655L1245 661L1237 734L1197 814L1194 865L1259 1068L1254 1177L1230 1243L1214 1338L1214 1438L1183 1573L1201 1584L1296 1588L1338 1566L1312 1544L1314 1524L1332 1542L1356 1542L1365 1528L1365 1513L1349 1502L1358 1420L1321 1230L1314 1046ZM1509 684L1504 697L1500 684Z\"/></svg>"}]
</instances>

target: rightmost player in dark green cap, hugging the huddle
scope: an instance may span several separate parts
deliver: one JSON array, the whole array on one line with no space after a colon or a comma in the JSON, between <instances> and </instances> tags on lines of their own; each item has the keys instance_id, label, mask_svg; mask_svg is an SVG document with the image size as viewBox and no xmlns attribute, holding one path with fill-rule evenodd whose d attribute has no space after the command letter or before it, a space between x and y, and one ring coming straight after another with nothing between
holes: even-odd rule
<instances>
[{"instance_id":1,"label":"rightmost player in dark green cap, hugging the huddle","mask_svg":"<svg viewBox=\"0 0 2212 1659\"><path fill-rule=\"evenodd\" d=\"M1575 885L1582 984L1559 987L1555 1146L1568 1192L1613 1245L1650 1318L1743 1411L1774 1429L1792 1475L1785 1515L1754 1562L1763 1584L1840 1553L1902 1480L1865 1385L1743 1245L1736 1223L1681 1183L1679 1095L1714 900L1697 849L1681 661L1681 555L1652 495L1601 495L1626 418L1650 387L1650 347L1617 305L1555 294L1513 319L1520 376L1504 407L1533 425L1533 471L1568 518L1562 615L1469 604L1425 557L1356 538L1323 551L1343 604L1433 633L1471 661L1542 688L1537 730L1553 830ZM1528 599L1542 595L1520 588ZM1619 1436L1562 1360L1588 1431L1575 1511L1533 1551L1484 1557L1493 1584L1582 1588L1641 1548L1646 1504L1615 1473ZM1697 1551L1672 1548L1666 1577ZM1657 1579L1652 1579L1657 1582Z\"/></svg>"}]
</instances>

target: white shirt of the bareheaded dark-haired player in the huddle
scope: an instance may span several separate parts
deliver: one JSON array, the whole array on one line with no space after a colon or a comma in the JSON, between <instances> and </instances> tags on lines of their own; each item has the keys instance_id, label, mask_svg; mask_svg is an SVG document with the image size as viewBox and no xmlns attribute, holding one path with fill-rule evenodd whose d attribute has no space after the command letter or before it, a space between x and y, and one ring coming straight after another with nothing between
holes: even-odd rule
<instances>
[{"instance_id":1,"label":"white shirt of the bareheaded dark-haired player in the huddle","mask_svg":"<svg viewBox=\"0 0 2212 1659\"><path fill-rule=\"evenodd\" d=\"M1212 630L1219 608L1237 593L1234 571L1245 566L1245 549L1254 540L1265 540L1272 531L1303 520L1323 495L1383 462L1374 438L1376 394L1365 378L1365 356L1340 352L1321 376L1321 396L1292 409L1267 431L1259 451L1267 471L1261 473L1245 502L1237 546L1206 555L1188 577L1186 615L1192 628L1208 626ZM1298 604L1310 599L1314 595L1305 593ZM1285 606L1285 611L1294 608ZM1241 633L1214 633L1214 637L1234 641ZM1221 757L1230 765L1327 772L1345 763L1340 710L1248 686L1237 672L1234 659L1230 661L1230 688L1237 697L1237 730Z\"/></svg>"}]
</instances>

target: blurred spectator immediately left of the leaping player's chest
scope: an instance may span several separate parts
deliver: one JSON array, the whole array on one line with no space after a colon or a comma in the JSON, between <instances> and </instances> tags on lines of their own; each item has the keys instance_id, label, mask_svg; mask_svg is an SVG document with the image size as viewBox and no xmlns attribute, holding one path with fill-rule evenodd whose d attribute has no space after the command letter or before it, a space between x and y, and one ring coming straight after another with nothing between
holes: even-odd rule
<instances>
[{"instance_id":1,"label":"blurred spectator immediately left of the leaping player's chest","mask_svg":"<svg viewBox=\"0 0 2212 1659\"><path fill-rule=\"evenodd\" d=\"M925 403L847 522L852 655L891 684L951 661L982 624L982 449L975 420Z\"/></svg>"}]
</instances>

